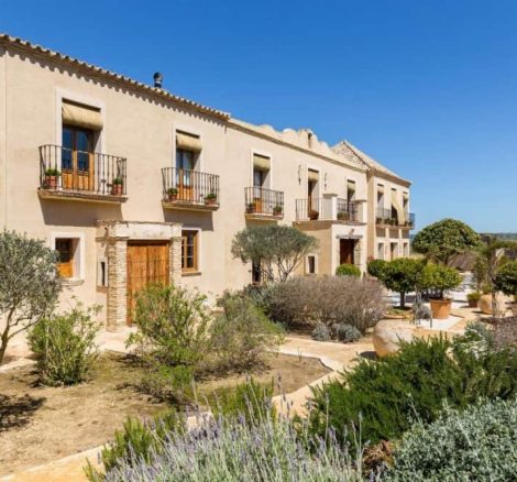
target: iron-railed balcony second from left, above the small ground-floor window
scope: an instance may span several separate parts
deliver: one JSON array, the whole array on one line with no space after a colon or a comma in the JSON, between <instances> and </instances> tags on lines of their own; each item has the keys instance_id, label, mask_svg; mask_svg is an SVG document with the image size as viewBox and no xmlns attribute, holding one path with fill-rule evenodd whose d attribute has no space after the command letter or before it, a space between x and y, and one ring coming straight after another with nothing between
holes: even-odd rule
<instances>
[{"instance_id":1,"label":"iron-railed balcony second from left, above the small ground-floor window","mask_svg":"<svg viewBox=\"0 0 517 482\"><path fill-rule=\"evenodd\" d=\"M219 176L216 174L164 167L162 182L164 208L194 211L219 209Z\"/></svg>"}]
</instances>

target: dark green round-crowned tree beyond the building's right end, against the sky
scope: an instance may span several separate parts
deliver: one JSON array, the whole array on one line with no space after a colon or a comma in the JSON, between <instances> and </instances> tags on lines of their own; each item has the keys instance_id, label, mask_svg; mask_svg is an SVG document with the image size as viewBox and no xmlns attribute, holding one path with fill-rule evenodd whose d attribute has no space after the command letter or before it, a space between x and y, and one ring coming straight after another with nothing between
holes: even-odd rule
<instances>
[{"instance_id":1,"label":"dark green round-crowned tree beyond the building's right end, against the sky","mask_svg":"<svg viewBox=\"0 0 517 482\"><path fill-rule=\"evenodd\" d=\"M442 219L424 228L413 241L413 249L417 253L444 265L455 254L475 251L480 245L480 235L455 219Z\"/></svg>"}]
</instances>

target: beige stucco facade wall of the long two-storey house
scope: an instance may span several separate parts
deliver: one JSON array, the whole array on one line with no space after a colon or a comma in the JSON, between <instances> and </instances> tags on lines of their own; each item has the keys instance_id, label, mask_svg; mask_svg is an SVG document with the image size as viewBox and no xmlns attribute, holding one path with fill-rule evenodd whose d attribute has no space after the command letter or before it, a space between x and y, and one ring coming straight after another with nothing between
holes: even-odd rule
<instances>
[{"instance_id":1,"label":"beige stucco facade wall of the long two-storey house","mask_svg":"<svg viewBox=\"0 0 517 482\"><path fill-rule=\"evenodd\" d=\"M103 129L97 150L128 158L127 202L45 200L37 196L38 146L62 144L62 98L101 109ZM175 163L176 129L200 136L202 151L197 169L220 176L220 208L213 212L162 207L161 168ZM97 303L106 307L107 289L97 286L97 261L107 258L105 241L97 234L99 220L177 222L200 229L200 272L183 276L182 283L211 295L250 283L251 266L233 260L230 245L235 232L261 222L246 220L244 216L244 188L252 185L254 152L271 156L268 187L284 191L285 211L280 222L290 226L295 221L295 200L307 197L308 168L320 173L319 196L345 197L346 180L354 180L355 198L369 199L363 220L370 221L371 217L366 169L344 165L327 144L307 131L276 132L233 119L218 120L99 76L56 66L44 56L18 51L6 55L1 47L0 142L3 227L48 243L56 233L72 233L84 240L84 275L68 286L63 295L64 304L69 304L70 295L75 295L87 305ZM320 238L320 250L333 253L320 258L320 273L333 273L337 237L351 229L362 237L364 269L370 252L369 228L337 224L324 232L315 232Z\"/></svg>"}]
</instances>

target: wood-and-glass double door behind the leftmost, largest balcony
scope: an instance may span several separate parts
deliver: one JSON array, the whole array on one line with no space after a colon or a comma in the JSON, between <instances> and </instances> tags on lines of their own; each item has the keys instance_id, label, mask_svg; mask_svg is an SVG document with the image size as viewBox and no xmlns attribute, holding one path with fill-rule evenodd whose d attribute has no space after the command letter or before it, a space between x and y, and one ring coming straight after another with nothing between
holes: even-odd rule
<instances>
[{"instance_id":1,"label":"wood-and-glass double door behind the leftmost, largest balcony","mask_svg":"<svg viewBox=\"0 0 517 482\"><path fill-rule=\"evenodd\" d=\"M94 131L63 125L62 185L64 189L95 189Z\"/></svg>"}]
</instances>

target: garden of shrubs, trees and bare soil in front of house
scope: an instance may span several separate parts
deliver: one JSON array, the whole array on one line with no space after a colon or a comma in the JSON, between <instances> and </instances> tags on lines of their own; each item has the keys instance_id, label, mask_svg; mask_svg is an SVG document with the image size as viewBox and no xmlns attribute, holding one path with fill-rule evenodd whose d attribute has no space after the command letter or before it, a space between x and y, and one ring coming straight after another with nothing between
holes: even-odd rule
<instances>
[{"instance_id":1,"label":"garden of shrubs, trees and bare soil in front of house","mask_svg":"<svg viewBox=\"0 0 517 482\"><path fill-rule=\"evenodd\" d=\"M216 313L197 292L148 286L136 300L128 352L114 353L96 346L96 307L55 311L54 253L2 235L0 264L21 270L32 255L38 283L54 283L45 296L22 302L12 295L34 289L31 280L20 288L16 275L13 292L9 281L0 285L0 308L12 313L3 338L24 326L35 360L0 373L2 468L15 467L28 447L44 460L85 448L80 439L87 447L110 440L100 465L85 467L90 481L515 479L514 244L443 220L416 237L419 255L372 261L367 276L342 265L336 276L298 277L316 241L287 227L249 228L235 235L232 253L260 262L263 285L224 293ZM7 266L15 261L2 250L32 254ZM475 254L473 293L488 295L488 316L480 311L454 337L399 338L389 357L360 355L311 385L302 414L280 409L284 394L329 373L302 353L278 353L286 339L353 349L385 321L387 289L398 294L398 313L410 314L402 320L408 327L443 309L449 316L450 293L462 283L450 264L462 252ZM54 426L63 435L53 446Z\"/></svg>"}]
</instances>

